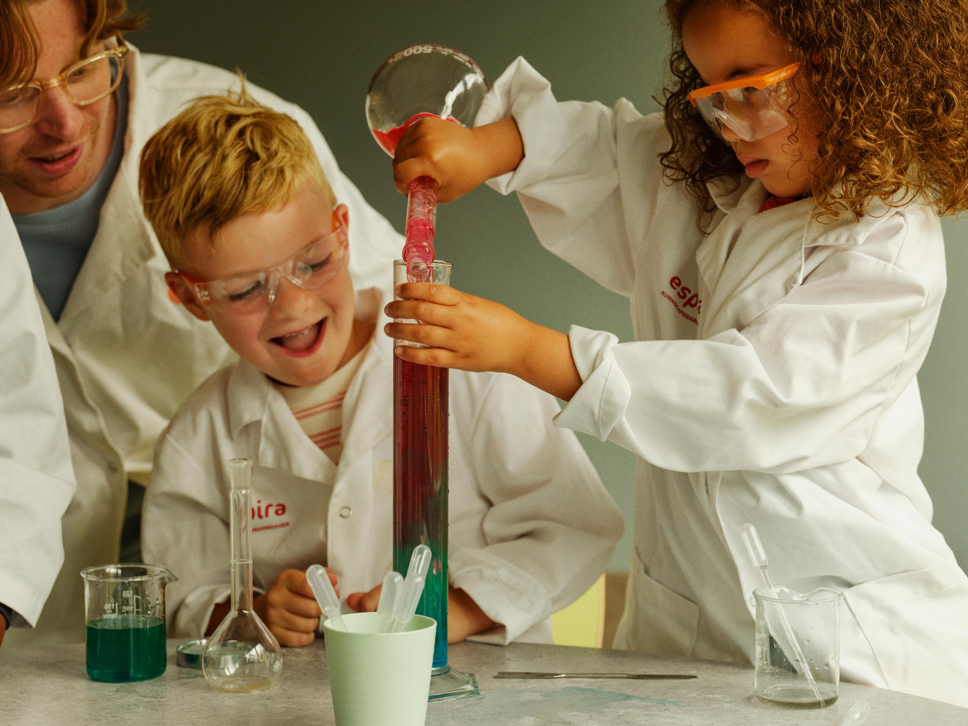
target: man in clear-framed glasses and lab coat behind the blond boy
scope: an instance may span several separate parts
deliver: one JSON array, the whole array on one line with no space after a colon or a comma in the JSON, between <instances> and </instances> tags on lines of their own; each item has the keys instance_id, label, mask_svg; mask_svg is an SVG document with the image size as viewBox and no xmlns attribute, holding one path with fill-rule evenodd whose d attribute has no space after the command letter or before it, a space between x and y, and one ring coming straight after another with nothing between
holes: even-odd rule
<instances>
[{"instance_id":1,"label":"man in clear-framed glasses and lab coat behind the blond boy","mask_svg":"<svg viewBox=\"0 0 968 726\"><path fill-rule=\"evenodd\" d=\"M188 394L235 358L211 326L168 297L137 165L144 142L180 106L238 80L140 54L123 38L140 24L125 0L0 0L0 195L42 301L77 480L62 519L64 566L33 631L8 633L5 647L45 633L83 638L78 572L138 557L129 524L137 524L155 441ZM400 236L340 172L308 114L248 87L299 122L348 206L354 286L389 285ZM0 531L30 526L0 511ZM133 546L121 553L123 527ZM5 604L2 586L0 578Z\"/></svg>"}]
</instances>

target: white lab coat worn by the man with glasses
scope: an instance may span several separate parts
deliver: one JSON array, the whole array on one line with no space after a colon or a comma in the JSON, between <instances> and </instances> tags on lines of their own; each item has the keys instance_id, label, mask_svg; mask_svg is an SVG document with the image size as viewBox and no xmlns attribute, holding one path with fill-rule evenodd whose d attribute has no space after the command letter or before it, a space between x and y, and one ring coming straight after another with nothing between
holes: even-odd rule
<instances>
[{"instance_id":1,"label":"white lab coat worn by the man with glasses","mask_svg":"<svg viewBox=\"0 0 968 726\"><path fill-rule=\"evenodd\" d=\"M18 637L11 645L44 631L83 639L78 572L117 561L127 479L147 481L155 441L172 414L201 381L235 359L211 325L168 298L169 268L141 211L137 166L144 143L186 102L225 93L238 86L238 78L193 61L142 55L134 48L126 75L131 105L124 160L63 315L54 322L44 309L78 482L63 522L66 559L37 632L14 633ZM402 237L339 170L305 111L255 85L248 88L257 101L300 123L334 194L347 204L354 284L390 285Z\"/></svg>"}]
</instances>

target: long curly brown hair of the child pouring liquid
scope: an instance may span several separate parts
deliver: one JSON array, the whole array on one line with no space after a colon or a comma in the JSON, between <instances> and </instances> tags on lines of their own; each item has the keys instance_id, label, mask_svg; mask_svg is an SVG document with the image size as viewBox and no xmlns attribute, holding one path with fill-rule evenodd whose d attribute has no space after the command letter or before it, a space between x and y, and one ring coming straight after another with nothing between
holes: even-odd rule
<instances>
[{"instance_id":1,"label":"long curly brown hair of the child pouring liquid","mask_svg":"<svg viewBox=\"0 0 968 726\"><path fill-rule=\"evenodd\" d=\"M968 0L668 0L672 147L660 160L701 209L713 208L708 181L739 184L742 172L687 98L704 82L682 47L682 22L711 2L766 16L801 63L798 88L821 117L810 190L819 219L860 218L875 198L919 199L942 215L968 209Z\"/></svg>"}]
</instances>

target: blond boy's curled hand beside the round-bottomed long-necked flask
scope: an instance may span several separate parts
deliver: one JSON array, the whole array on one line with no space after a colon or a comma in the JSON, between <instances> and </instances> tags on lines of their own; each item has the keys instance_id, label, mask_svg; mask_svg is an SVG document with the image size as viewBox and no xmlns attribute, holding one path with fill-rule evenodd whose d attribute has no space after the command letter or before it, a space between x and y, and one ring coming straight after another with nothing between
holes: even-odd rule
<instances>
[{"instance_id":1,"label":"blond boy's curled hand beside the round-bottomed long-necked flask","mask_svg":"<svg viewBox=\"0 0 968 726\"><path fill-rule=\"evenodd\" d=\"M335 587L336 576L328 569L326 572ZM339 590L336 594L339 597ZM303 570L283 572L268 592L256 598L255 608L281 646L302 648L316 638L322 612Z\"/></svg>"}]
</instances>

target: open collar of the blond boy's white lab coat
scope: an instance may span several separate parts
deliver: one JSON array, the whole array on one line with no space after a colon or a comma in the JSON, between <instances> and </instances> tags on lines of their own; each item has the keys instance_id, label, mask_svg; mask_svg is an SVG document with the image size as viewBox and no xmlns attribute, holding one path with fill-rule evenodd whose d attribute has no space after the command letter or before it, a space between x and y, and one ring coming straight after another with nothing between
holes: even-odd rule
<instances>
[{"instance_id":1,"label":"open collar of the blond boy's white lab coat","mask_svg":"<svg viewBox=\"0 0 968 726\"><path fill-rule=\"evenodd\" d=\"M389 291L375 287L356 294L356 318L375 319L376 331L344 400L345 446L340 469L369 454L392 430L393 383L388 371L392 370L393 348L382 331L388 321L382 307L390 297ZM246 427L257 427L252 431L250 450L257 451L258 466L287 470L306 479L328 478L332 462L303 434L282 394L251 363L235 364L228 378L227 400L233 439L243 437Z\"/></svg>"}]
</instances>

